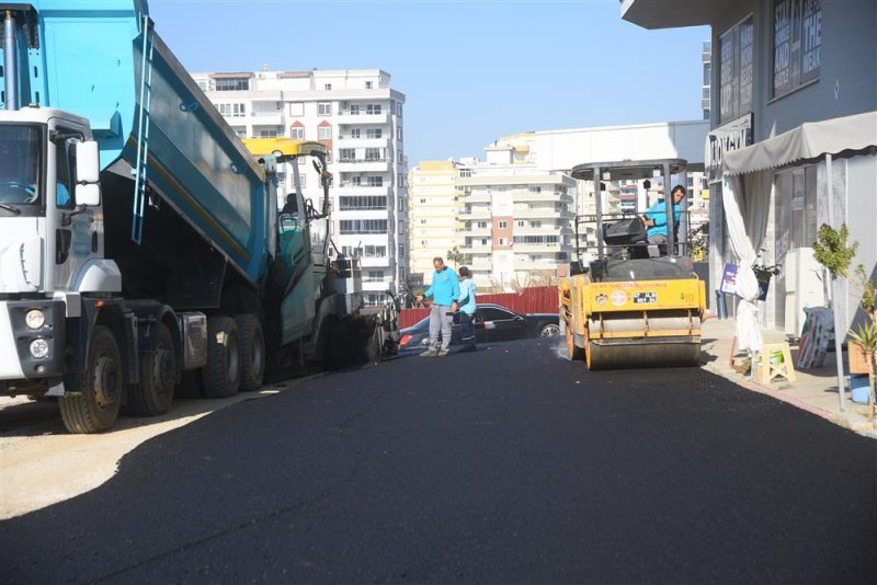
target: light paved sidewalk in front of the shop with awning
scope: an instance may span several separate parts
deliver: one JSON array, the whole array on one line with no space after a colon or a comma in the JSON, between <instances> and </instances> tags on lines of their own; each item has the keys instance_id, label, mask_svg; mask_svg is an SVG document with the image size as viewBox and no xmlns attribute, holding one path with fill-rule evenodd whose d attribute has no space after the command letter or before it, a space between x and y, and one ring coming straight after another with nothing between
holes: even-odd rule
<instances>
[{"instance_id":1,"label":"light paved sidewalk in front of the shop with awning","mask_svg":"<svg viewBox=\"0 0 877 585\"><path fill-rule=\"evenodd\" d=\"M763 386L747 376L738 374L729 364L734 325L736 321L733 319L721 321L708 319L704 322L702 329L702 360L704 369L727 378L749 390L767 394L822 416L859 435L877 438L877 423L868 420L868 406L866 404L856 404L850 400L848 383L844 392L846 410L841 412L838 401L838 367L834 352L830 352L825 356L825 362L820 368L796 369L795 374L798 379L795 383L777 378L770 386ZM764 343L782 343L786 341L782 331L764 329L762 334L764 335ZM793 358L796 357L796 347L793 346ZM846 368L846 354L844 353L844 375L850 374Z\"/></svg>"}]
</instances>

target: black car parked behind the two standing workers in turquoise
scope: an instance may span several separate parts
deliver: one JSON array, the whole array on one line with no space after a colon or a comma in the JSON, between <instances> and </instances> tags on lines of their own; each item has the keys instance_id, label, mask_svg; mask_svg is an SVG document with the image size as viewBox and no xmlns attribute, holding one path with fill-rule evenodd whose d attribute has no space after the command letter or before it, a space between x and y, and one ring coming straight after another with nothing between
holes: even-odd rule
<instances>
[{"instance_id":1,"label":"black car parked behind the two standing workers in turquoise","mask_svg":"<svg viewBox=\"0 0 877 585\"><path fill-rule=\"evenodd\" d=\"M560 333L555 313L516 313L499 305L479 305L472 319L477 343L547 337ZM401 330L400 349L425 349L430 344L430 318ZM459 345L459 313L454 316L451 345Z\"/></svg>"}]
</instances>

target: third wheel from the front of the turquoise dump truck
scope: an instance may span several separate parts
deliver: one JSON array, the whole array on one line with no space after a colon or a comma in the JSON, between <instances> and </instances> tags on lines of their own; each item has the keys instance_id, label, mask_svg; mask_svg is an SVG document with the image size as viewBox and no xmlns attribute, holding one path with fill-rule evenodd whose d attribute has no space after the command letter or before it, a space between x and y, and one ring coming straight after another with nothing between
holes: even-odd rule
<instances>
[{"instance_id":1,"label":"third wheel from the front of the turquoise dump truck","mask_svg":"<svg viewBox=\"0 0 877 585\"><path fill-rule=\"evenodd\" d=\"M201 369L204 395L228 398L240 388L238 324L230 317L207 320L207 365Z\"/></svg>"}]
</instances>

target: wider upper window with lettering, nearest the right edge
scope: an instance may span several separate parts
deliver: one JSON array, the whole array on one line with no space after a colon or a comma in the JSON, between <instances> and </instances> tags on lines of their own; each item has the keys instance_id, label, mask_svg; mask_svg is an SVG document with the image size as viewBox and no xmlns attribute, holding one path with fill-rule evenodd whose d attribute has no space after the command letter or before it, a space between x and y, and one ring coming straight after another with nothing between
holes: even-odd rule
<instances>
[{"instance_id":1,"label":"wider upper window with lettering, nearest the right edge","mask_svg":"<svg viewBox=\"0 0 877 585\"><path fill-rule=\"evenodd\" d=\"M774 0L772 95L779 97L819 79L822 2Z\"/></svg>"}]
</instances>

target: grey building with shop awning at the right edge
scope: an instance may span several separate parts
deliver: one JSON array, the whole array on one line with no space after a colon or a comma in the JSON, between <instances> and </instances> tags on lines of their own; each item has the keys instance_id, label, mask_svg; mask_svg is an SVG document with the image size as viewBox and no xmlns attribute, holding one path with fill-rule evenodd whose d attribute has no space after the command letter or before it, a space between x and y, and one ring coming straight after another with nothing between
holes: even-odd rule
<instances>
[{"instance_id":1,"label":"grey building with shop awning at the right edge","mask_svg":"<svg viewBox=\"0 0 877 585\"><path fill-rule=\"evenodd\" d=\"M763 324L798 335L799 294L821 287L818 271L801 271L819 226L846 223L858 242L853 266L877 272L877 3L624 0L620 10L646 28L711 27L710 272L737 261L725 203L733 198L760 262L781 267ZM808 123L820 131L802 140ZM859 298L842 283L839 330L863 318Z\"/></svg>"}]
</instances>

